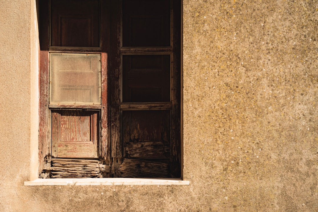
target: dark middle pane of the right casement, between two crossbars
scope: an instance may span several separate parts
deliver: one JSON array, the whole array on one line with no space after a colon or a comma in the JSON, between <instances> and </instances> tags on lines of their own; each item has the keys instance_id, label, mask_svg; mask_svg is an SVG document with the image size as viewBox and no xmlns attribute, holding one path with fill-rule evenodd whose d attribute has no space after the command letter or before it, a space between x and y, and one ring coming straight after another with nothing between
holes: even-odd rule
<instances>
[{"instance_id":1,"label":"dark middle pane of the right casement, between two crossbars","mask_svg":"<svg viewBox=\"0 0 318 212\"><path fill-rule=\"evenodd\" d=\"M122 56L123 102L169 102L170 56Z\"/></svg>"}]
</instances>

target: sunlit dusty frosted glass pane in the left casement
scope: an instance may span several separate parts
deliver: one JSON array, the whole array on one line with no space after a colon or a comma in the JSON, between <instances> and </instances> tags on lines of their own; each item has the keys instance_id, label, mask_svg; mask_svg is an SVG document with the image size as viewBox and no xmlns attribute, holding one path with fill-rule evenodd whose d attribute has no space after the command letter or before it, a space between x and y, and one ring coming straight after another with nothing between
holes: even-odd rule
<instances>
[{"instance_id":1,"label":"sunlit dusty frosted glass pane in the left casement","mask_svg":"<svg viewBox=\"0 0 318 212\"><path fill-rule=\"evenodd\" d=\"M51 53L50 103L100 104L100 54Z\"/></svg>"}]
</instances>

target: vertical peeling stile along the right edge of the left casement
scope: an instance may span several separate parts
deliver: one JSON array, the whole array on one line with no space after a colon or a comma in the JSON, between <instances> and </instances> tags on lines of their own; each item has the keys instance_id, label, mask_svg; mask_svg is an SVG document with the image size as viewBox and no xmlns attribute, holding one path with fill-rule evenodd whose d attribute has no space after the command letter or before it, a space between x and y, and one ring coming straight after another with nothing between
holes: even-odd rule
<instances>
[{"instance_id":1,"label":"vertical peeling stile along the right edge of the left casement","mask_svg":"<svg viewBox=\"0 0 318 212\"><path fill-rule=\"evenodd\" d=\"M101 138L100 138L100 156L107 163L110 162L111 148L111 44L110 44L110 1L101 1Z\"/></svg>"}]
</instances>

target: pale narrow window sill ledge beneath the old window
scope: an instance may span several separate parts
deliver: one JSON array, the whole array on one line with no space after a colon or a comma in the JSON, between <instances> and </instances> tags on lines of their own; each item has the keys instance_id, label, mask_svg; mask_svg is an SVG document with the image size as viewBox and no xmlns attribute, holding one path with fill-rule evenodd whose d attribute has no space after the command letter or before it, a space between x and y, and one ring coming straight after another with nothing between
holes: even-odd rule
<instances>
[{"instance_id":1,"label":"pale narrow window sill ledge beneath the old window","mask_svg":"<svg viewBox=\"0 0 318 212\"><path fill-rule=\"evenodd\" d=\"M25 186L43 185L189 185L179 178L57 178L25 181Z\"/></svg>"}]
</instances>

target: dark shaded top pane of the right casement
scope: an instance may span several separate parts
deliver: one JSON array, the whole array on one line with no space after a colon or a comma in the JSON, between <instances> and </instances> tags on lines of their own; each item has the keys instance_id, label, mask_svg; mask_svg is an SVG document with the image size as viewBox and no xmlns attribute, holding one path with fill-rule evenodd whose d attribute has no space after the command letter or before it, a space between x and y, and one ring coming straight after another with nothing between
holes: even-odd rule
<instances>
[{"instance_id":1,"label":"dark shaded top pane of the right casement","mask_svg":"<svg viewBox=\"0 0 318 212\"><path fill-rule=\"evenodd\" d=\"M123 46L170 46L169 0L123 0Z\"/></svg>"}]
</instances>

